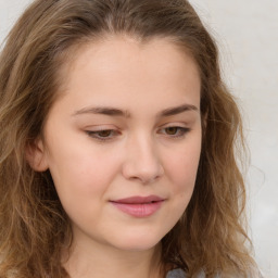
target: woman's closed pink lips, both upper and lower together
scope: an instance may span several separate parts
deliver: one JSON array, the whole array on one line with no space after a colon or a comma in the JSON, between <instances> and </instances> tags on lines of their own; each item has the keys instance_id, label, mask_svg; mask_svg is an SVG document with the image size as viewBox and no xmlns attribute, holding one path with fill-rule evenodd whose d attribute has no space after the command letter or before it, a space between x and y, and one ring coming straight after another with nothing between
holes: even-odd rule
<instances>
[{"instance_id":1,"label":"woman's closed pink lips, both upper and lower together","mask_svg":"<svg viewBox=\"0 0 278 278\"><path fill-rule=\"evenodd\" d=\"M148 217L154 214L165 200L156 197L130 197L111 201L119 211L135 217Z\"/></svg>"}]
</instances>

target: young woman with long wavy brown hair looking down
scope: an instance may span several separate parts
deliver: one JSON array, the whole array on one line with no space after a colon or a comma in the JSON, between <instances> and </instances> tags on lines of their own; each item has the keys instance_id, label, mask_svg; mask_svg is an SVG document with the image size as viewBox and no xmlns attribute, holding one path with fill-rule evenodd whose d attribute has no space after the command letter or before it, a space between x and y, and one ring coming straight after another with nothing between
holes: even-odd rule
<instances>
[{"instance_id":1,"label":"young woman with long wavy brown hair looking down","mask_svg":"<svg viewBox=\"0 0 278 278\"><path fill-rule=\"evenodd\" d=\"M37 0L0 77L1 277L254 277L241 119L188 1Z\"/></svg>"}]
</instances>

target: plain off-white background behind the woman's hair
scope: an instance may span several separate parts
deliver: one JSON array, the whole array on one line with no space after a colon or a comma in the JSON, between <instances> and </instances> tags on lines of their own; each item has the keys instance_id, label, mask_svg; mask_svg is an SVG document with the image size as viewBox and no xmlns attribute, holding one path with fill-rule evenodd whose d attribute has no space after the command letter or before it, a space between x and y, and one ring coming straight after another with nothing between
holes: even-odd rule
<instances>
[{"instance_id":1,"label":"plain off-white background behind the woman's hair","mask_svg":"<svg viewBox=\"0 0 278 278\"><path fill-rule=\"evenodd\" d=\"M1 42L29 2L0 0ZM242 108L251 153L251 237L264 276L278 278L278 1L191 3L218 41L223 74Z\"/></svg>"}]
</instances>

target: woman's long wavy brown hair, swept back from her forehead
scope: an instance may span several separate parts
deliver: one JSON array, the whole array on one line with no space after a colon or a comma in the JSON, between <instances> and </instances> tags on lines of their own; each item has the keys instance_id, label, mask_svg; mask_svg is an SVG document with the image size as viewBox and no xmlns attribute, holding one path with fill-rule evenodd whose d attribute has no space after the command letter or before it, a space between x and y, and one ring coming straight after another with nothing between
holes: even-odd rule
<instances>
[{"instance_id":1,"label":"woman's long wavy brown hair, swept back from her forehead","mask_svg":"<svg viewBox=\"0 0 278 278\"><path fill-rule=\"evenodd\" d=\"M247 277L253 260L242 227L245 189L237 164L241 117L223 84L214 40L186 0L37 0L0 56L0 277L66 277L61 252L72 231L49 172L25 159L78 46L125 34L165 37L192 55L201 76L203 142L192 199L162 240L162 262L188 277ZM238 148L237 148L238 147Z\"/></svg>"}]
</instances>

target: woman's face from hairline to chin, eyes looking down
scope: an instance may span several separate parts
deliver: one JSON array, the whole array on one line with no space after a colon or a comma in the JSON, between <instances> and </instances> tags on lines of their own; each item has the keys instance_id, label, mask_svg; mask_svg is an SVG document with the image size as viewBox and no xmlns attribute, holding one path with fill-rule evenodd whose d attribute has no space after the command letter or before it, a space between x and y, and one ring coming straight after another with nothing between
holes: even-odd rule
<instances>
[{"instance_id":1,"label":"woman's face from hairline to chin, eyes looking down","mask_svg":"<svg viewBox=\"0 0 278 278\"><path fill-rule=\"evenodd\" d=\"M47 118L37 169L50 169L85 245L153 248L178 222L201 151L200 76L166 39L87 45Z\"/></svg>"}]
</instances>

